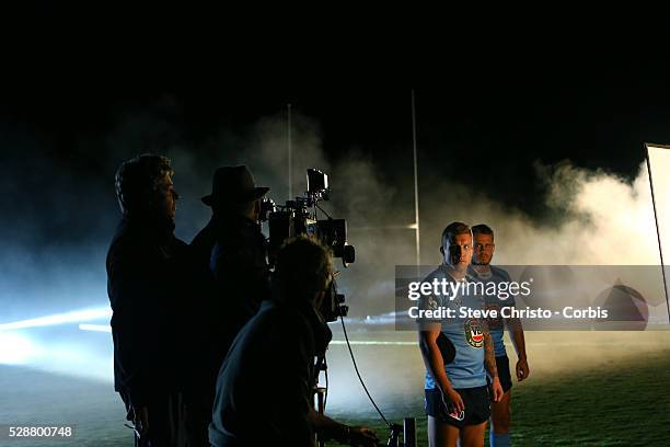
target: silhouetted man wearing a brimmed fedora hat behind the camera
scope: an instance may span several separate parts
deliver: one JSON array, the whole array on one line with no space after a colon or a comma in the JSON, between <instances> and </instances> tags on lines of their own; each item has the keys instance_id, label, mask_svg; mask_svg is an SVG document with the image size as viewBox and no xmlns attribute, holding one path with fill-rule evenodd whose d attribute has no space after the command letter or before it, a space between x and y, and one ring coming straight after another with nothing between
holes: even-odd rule
<instances>
[{"instance_id":1,"label":"silhouetted man wearing a brimmed fedora hat behind the camera","mask_svg":"<svg viewBox=\"0 0 670 447\"><path fill-rule=\"evenodd\" d=\"M261 199L268 191L256 186L247 167L222 167L215 171L211 194L201 198L212 215L190 243L210 298L201 311L208 354L200 359L206 365L200 391L187 399L187 425L196 438L207 439L217 374L233 339L269 298L267 248L258 225Z\"/></svg>"}]
</instances>

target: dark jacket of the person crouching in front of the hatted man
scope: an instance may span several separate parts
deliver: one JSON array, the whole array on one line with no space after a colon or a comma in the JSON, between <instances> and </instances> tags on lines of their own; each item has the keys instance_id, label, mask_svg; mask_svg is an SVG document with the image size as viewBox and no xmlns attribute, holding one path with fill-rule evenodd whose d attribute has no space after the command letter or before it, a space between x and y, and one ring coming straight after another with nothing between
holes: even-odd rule
<instances>
[{"instance_id":1,"label":"dark jacket of the person crouching in front of the hatted man","mask_svg":"<svg viewBox=\"0 0 670 447\"><path fill-rule=\"evenodd\" d=\"M211 445L313 445L309 412L314 346L303 312L264 302L221 366L209 425Z\"/></svg>"}]
</instances>

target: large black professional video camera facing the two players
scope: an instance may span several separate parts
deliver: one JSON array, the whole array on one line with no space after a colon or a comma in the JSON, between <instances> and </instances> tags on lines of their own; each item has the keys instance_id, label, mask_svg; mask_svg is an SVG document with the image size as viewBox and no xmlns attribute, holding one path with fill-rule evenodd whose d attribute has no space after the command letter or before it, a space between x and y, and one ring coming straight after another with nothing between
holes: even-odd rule
<instances>
[{"instance_id":1,"label":"large black professional video camera facing the two players","mask_svg":"<svg viewBox=\"0 0 670 447\"><path fill-rule=\"evenodd\" d=\"M319 202L328 199L328 176L317 169L307 171L307 192L286 205L276 205L265 198L261 205L261 221L267 221L269 230L268 261L275 264L275 257L284 241L298 234L314 234L333 250L335 257L340 257L345 267L356 261L354 245L347 243L347 222L345 219L333 219L319 206ZM317 211L325 219L319 219ZM323 301L321 313L328 321L346 317L348 307L345 296L337 294L335 282L331 284L328 297Z\"/></svg>"}]
</instances>

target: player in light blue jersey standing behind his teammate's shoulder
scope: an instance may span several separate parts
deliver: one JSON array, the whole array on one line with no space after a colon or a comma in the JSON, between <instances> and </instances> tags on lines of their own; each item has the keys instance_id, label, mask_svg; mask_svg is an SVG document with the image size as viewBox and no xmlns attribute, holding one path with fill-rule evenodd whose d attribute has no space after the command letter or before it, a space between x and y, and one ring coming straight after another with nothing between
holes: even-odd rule
<instances>
[{"instance_id":1,"label":"player in light blue jersey standing behind his teammate's shoulder","mask_svg":"<svg viewBox=\"0 0 670 447\"><path fill-rule=\"evenodd\" d=\"M484 225L475 225L472 227L474 238L474 253L472 257L471 274L475 275L483 282L503 283L510 282L509 274L503 268L490 265L496 244L494 243L493 230ZM497 309L498 312L503 307L513 307L515 297L509 295L503 299L497 296L485 296L486 309ZM511 375L509 373L509 358L503 342L505 326L509 331L509 336L517 351L517 380L521 381L528 377L530 369L525 357L525 341L523 339L523 328L519 319L488 319L488 328L490 337L494 342L494 351L496 354L496 366L500 385L505 394L499 402L494 402L490 406L490 447L508 447L511 445L509 435L509 425L511 422Z\"/></svg>"}]
</instances>

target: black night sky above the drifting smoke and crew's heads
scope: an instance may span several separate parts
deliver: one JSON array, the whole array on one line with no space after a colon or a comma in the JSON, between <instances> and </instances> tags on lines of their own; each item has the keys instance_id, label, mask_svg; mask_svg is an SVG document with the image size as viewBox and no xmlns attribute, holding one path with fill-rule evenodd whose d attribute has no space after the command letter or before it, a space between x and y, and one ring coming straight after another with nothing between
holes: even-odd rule
<instances>
[{"instance_id":1,"label":"black night sky above the drifting smoke and crew's heads","mask_svg":"<svg viewBox=\"0 0 670 447\"><path fill-rule=\"evenodd\" d=\"M534 23L527 33L511 24L504 33L477 28L481 43L451 18L440 38L396 30L363 39L357 32L365 20L350 18L322 42L331 30L322 21L293 26L258 16L246 26L226 9L26 10L21 21L7 14L2 31L4 239L36 217L45 240L77 239L91 226L107 231L77 215L114 211L108 188L119 154L109 138L128 116L153 117L169 134L140 136L138 151L161 152L176 140L207 172L224 149L220 129L249 133L291 103L317 125L328 160L355 150L394 184L412 172L415 89L419 174L429 167L432 177L545 224L555 216L545 208L539 167L569 160L632 180L645 141L670 142L667 64L624 46L623 37L568 43L552 28L540 42L548 25ZM420 183L432 184L425 176Z\"/></svg>"}]
</instances>

